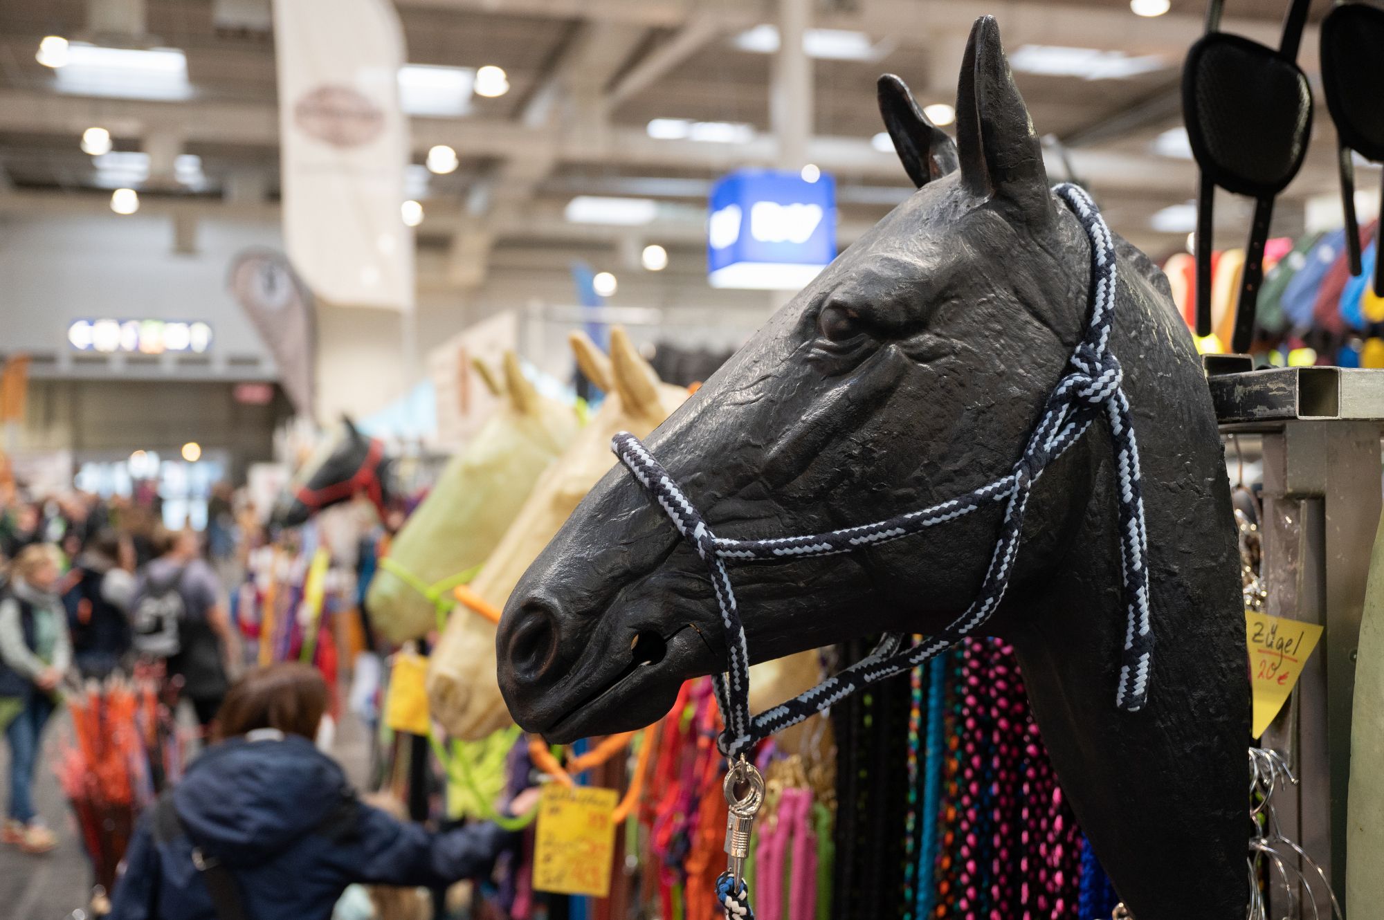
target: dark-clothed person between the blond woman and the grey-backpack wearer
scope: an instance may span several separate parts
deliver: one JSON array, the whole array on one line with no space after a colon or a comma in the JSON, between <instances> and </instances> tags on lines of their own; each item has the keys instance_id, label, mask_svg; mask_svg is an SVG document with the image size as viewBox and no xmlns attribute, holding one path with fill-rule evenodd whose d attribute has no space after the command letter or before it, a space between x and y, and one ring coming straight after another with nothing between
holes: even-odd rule
<instances>
[{"instance_id":1,"label":"dark-clothed person between the blond woman and the grey-backpack wearer","mask_svg":"<svg viewBox=\"0 0 1384 920\"><path fill-rule=\"evenodd\" d=\"M130 653L130 602L134 576L119 563L120 538L102 530L83 549L64 580L62 600L68 607L68 628L78 672L104 679Z\"/></svg>"}]
</instances>

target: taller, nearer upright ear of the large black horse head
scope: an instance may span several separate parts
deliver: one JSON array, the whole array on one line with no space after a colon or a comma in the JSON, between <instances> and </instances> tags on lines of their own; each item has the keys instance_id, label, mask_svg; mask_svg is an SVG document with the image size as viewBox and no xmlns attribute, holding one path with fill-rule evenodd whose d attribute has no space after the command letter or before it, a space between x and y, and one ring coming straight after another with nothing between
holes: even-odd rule
<instances>
[{"instance_id":1,"label":"taller, nearer upright ear of the large black horse head","mask_svg":"<svg viewBox=\"0 0 1384 920\"><path fill-rule=\"evenodd\" d=\"M1052 213L1042 144L1014 86L999 24L981 17L970 29L956 89L956 151L962 183L977 196L1001 196L1031 219Z\"/></svg>"}]
</instances>

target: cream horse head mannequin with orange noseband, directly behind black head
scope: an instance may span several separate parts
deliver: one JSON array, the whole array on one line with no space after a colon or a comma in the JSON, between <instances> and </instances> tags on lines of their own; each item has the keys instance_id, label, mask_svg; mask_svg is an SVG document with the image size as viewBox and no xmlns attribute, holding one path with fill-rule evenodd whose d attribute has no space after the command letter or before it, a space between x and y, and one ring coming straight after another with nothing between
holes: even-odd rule
<instances>
[{"instance_id":1,"label":"cream horse head mannequin with orange noseband, directly behind black head","mask_svg":"<svg viewBox=\"0 0 1384 920\"><path fill-rule=\"evenodd\" d=\"M520 576L558 533L577 504L610 466L616 432L645 437L688 397L680 386L659 380L620 326L610 329L610 357L574 332L577 364L606 393L591 422L567 451L544 472L513 524L471 582L471 591L504 607ZM752 704L768 708L812 686L817 653L796 654L756 665ZM428 670L432 717L453 737L477 740L512 724L495 682L495 627L465 607L453 611Z\"/></svg>"}]
</instances>

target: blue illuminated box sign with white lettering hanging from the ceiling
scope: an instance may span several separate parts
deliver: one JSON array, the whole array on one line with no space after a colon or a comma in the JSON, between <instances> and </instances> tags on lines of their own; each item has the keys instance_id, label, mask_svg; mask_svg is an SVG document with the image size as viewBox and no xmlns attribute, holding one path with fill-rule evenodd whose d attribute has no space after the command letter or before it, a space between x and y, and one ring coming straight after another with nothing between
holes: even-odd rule
<instances>
[{"instance_id":1,"label":"blue illuminated box sign with white lettering hanging from the ceiling","mask_svg":"<svg viewBox=\"0 0 1384 920\"><path fill-rule=\"evenodd\" d=\"M740 169L711 190L713 288L796 291L836 257L836 183L821 173Z\"/></svg>"}]
</instances>

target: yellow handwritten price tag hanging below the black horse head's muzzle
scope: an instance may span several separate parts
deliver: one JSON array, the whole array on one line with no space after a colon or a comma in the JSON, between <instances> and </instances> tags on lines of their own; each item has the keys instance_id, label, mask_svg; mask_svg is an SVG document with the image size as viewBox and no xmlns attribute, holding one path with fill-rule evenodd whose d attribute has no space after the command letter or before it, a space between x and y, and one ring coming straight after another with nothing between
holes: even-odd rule
<instances>
[{"instance_id":1,"label":"yellow handwritten price tag hanging below the black horse head's muzzle","mask_svg":"<svg viewBox=\"0 0 1384 920\"><path fill-rule=\"evenodd\" d=\"M614 862L616 791L549 783L538 800L534 891L605 898Z\"/></svg>"}]
</instances>

